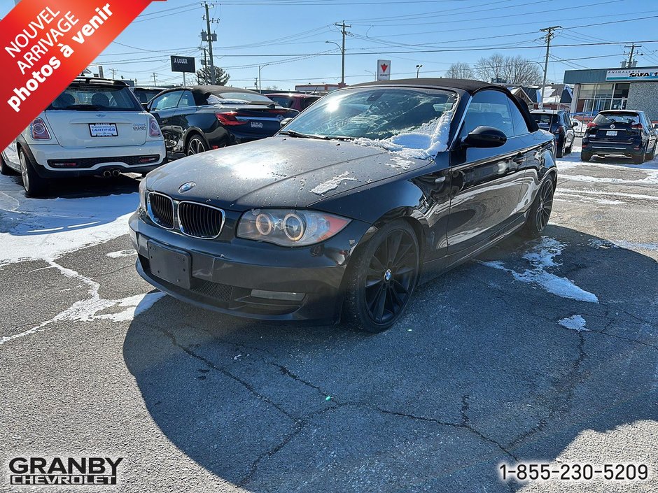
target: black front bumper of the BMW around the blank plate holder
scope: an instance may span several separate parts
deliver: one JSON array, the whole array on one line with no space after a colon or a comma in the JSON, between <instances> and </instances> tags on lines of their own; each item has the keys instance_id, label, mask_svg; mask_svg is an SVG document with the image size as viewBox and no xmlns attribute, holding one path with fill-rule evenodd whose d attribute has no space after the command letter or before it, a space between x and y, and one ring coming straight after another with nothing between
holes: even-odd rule
<instances>
[{"instance_id":1,"label":"black front bumper of the BMW around the blank plate holder","mask_svg":"<svg viewBox=\"0 0 658 493\"><path fill-rule=\"evenodd\" d=\"M226 211L225 228L239 213ZM235 219L235 220L234 220ZM195 306L221 313L279 322L335 323L342 307L342 283L349 257L370 224L353 220L320 245L283 248L241 238L191 238L130 217L138 252L137 272L159 290ZM190 257L190 287L169 283L151 271L148 243Z\"/></svg>"}]
</instances>

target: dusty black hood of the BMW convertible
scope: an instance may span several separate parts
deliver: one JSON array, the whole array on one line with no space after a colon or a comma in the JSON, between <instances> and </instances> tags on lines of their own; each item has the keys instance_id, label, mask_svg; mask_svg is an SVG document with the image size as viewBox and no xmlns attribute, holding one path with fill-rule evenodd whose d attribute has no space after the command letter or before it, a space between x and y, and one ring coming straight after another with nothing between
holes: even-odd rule
<instances>
[{"instance_id":1,"label":"dusty black hood of the BMW convertible","mask_svg":"<svg viewBox=\"0 0 658 493\"><path fill-rule=\"evenodd\" d=\"M228 210L304 208L430 162L349 141L274 136L166 164L148 174L146 187ZM188 182L195 186L180 192Z\"/></svg>"}]
</instances>

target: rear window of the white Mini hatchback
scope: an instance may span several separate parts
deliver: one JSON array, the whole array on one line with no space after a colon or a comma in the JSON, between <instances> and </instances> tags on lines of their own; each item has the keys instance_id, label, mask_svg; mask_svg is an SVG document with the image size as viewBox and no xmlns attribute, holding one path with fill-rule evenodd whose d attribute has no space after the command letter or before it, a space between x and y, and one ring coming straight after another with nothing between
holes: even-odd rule
<instances>
[{"instance_id":1,"label":"rear window of the white Mini hatchback","mask_svg":"<svg viewBox=\"0 0 658 493\"><path fill-rule=\"evenodd\" d=\"M49 110L144 111L126 86L72 84L48 106Z\"/></svg>"}]
</instances>

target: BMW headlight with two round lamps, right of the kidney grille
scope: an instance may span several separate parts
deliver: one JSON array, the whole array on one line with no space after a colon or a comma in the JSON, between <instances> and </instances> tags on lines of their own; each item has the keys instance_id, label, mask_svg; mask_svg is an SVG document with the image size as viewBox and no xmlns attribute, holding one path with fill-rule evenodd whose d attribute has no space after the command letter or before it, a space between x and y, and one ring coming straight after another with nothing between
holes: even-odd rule
<instances>
[{"instance_id":1,"label":"BMW headlight with two round lamps, right of the kidney grille","mask_svg":"<svg viewBox=\"0 0 658 493\"><path fill-rule=\"evenodd\" d=\"M349 219L315 210L256 209L240 217L237 236L282 246L304 246L331 238Z\"/></svg>"}]
</instances>

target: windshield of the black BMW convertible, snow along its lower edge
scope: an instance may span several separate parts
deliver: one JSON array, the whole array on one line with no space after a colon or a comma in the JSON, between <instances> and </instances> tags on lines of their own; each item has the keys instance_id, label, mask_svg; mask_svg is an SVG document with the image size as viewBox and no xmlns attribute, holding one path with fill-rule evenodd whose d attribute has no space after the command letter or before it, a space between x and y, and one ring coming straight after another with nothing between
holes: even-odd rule
<instances>
[{"instance_id":1,"label":"windshield of the black BMW convertible, snow along its lower edge","mask_svg":"<svg viewBox=\"0 0 658 493\"><path fill-rule=\"evenodd\" d=\"M447 142L457 99L454 92L423 88L342 90L310 106L282 133L293 131L316 138L390 139L391 144L402 148L428 149L424 137L437 138L441 133Z\"/></svg>"}]
</instances>

